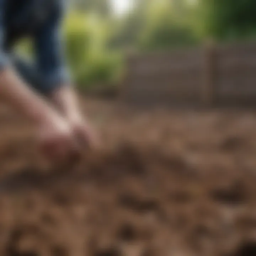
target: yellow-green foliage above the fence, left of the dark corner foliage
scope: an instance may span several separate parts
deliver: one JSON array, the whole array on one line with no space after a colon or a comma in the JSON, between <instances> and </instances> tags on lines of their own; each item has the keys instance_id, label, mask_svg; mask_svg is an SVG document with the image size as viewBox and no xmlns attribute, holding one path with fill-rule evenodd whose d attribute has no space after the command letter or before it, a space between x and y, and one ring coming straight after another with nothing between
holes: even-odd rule
<instances>
[{"instance_id":1,"label":"yellow-green foliage above the fence, left of the dark corner foliage","mask_svg":"<svg viewBox=\"0 0 256 256\"><path fill-rule=\"evenodd\" d=\"M137 0L119 22L111 45L154 51L197 43L193 14L187 0Z\"/></svg>"}]
</instances>

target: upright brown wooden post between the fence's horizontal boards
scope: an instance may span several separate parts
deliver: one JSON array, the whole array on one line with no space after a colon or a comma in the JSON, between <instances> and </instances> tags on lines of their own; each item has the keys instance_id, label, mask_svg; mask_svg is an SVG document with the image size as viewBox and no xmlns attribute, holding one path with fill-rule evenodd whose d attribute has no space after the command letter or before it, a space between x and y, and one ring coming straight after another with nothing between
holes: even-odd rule
<instances>
[{"instance_id":1,"label":"upright brown wooden post between the fence's horizontal boards","mask_svg":"<svg viewBox=\"0 0 256 256\"><path fill-rule=\"evenodd\" d=\"M212 42L204 46L203 83L201 100L204 106L212 106L215 101L216 48Z\"/></svg>"}]
</instances>

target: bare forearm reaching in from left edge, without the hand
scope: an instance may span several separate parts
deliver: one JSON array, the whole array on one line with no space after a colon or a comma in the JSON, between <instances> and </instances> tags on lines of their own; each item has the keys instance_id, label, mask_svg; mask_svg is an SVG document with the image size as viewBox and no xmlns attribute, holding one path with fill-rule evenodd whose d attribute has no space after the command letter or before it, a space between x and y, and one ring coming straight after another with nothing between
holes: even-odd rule
<instances>
[{"instance_id":1,"label":"bare forearm reaching in from left edge, without the hand","mask_svg":"<svg viewBox=\"0 0 256 256\"><path fill-rule=\"evenodd\" d=\"M9 68L0 73L0 97L34 123L54 119L56 113Z\"/></svg>"}]
</instances>

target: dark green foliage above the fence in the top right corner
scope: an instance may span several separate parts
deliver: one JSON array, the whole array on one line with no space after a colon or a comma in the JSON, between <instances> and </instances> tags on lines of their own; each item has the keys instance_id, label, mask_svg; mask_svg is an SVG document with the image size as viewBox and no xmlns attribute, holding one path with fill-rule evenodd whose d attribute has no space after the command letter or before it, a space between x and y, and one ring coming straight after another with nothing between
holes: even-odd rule
<instances>
[{"instance_id":1,"label":"dark green foliage above the fence in the top right corner","mask_svg":"<svg viewBox=\"0 0 256 256\"><path fill-rule=\"evenodd\" d=\"M220 39L255 36L255 0L200 0L199 3L206 34Z\"/></svg>"}]
</instances>

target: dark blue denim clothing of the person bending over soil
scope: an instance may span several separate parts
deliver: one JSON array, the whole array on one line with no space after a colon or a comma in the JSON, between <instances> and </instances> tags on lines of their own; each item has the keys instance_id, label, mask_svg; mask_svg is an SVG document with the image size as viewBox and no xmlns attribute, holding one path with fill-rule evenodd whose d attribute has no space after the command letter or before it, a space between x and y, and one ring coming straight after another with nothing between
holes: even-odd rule
<instances>
[{"instance_id":1,"label":"dark blue denim clothing of the person bending over soil","mask_svg":"<svg viewBox=\"0 0 256 256\"><path fill-rule=\"evenodd\" d=\"M44 95L70 84L59 30L64 10L63 0L0 0L0 71L11 64ZM12 56L14 43L22 37L33 39L35 64Z\"/></svg>"}]
</instances>

